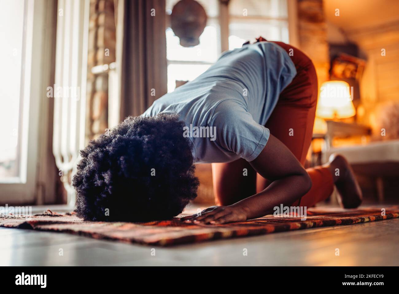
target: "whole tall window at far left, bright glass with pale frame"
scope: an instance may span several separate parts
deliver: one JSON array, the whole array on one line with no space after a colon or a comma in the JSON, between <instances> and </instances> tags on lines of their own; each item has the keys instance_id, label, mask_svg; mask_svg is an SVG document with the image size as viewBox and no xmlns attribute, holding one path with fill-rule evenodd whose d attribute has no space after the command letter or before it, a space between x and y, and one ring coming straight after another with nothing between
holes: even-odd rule
<instances>
[{"instance_id":1,"label":"whole tall window at far left, bright glass with pale frame","mask_svg":"<svg viewBox=\"0 0 399 294\"><path fill-rule=\"evenodd\" d=\"M50 99L56 2L0 0L0 203L55 199ZM47 193L47 194L46 194ZM47 197L48 196L48 197ZM0 204L1 205L1 204Z\"/></svg>"}]
</instances>

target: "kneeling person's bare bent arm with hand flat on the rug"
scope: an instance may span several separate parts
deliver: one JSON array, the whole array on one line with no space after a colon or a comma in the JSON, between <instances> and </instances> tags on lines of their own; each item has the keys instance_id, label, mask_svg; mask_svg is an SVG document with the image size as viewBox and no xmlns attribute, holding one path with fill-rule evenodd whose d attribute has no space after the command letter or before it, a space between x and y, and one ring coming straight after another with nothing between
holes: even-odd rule
<instances>
[{"instance_id":1,"label":"kneeling person's bare bent arm with hand flat on the rug","mask_svg":"<svg viewBox=\"0 0 399 294\"><path fill-rule=\"evenodd\" d=\"M255 219L273 213L275 206L291 205L312 187L312 181L291 151L273 135L265 148L250 162L262 177L273 181L265 190L226 207L210 207L185 217L185 221L225 223Z\"/></svg>"}]
</instances>

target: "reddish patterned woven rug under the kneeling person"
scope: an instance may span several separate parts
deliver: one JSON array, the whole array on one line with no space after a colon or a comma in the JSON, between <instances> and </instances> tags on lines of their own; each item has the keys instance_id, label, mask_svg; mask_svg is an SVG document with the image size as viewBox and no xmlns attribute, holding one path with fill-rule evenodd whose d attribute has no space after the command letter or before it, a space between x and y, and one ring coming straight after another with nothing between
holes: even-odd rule
<instances>
[{"instance_id":1,"label":"reddish patterned woven rug under the kneeling person","mask_svg":"<svg viewBox=\"0 0 399 294\"><path fill-rule=\"evenodd\" d=\"M399 217L399 207L368 207L361 209L311 208L306 220L300 217L273 217L268 215L252 221L232 222L220 225L190 224L181 222L180 217L194 214L190 209L182 215L167 220L153 222L87 222L78 219L73 213L61 215L46 211L31 218L9 215L0 218L0 226L25 228L54 232L79 234L97 239L147 245L170 246L195 243L221 238L244 237L288 230L357 224ZM385 213L384 213L385 212Z\"/></svg>"}]
</instances>

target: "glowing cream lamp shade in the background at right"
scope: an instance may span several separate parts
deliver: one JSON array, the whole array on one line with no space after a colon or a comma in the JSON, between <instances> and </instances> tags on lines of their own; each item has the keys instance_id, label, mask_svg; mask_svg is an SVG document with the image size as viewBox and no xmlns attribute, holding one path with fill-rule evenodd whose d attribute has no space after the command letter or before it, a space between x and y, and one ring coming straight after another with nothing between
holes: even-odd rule
<instances>
[{"instance_id":1,"label":"glowing cream lamp shade in the background at right","mask_svg":"<svg viewBox=\"0 0 399 294\"><path fill-rule=\"evenodd\" d=\"M349 89L349 84L345 81L322 83L316 116L324 119L341 119L354 116L356 109Z\"/></svg>"}]
</instances>

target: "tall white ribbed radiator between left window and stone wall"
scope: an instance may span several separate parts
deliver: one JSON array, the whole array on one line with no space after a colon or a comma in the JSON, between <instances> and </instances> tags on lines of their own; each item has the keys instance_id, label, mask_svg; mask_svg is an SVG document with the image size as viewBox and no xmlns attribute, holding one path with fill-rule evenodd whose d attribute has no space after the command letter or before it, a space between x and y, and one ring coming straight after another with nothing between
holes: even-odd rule
<instances>
[{"instance_id":1,"label":"tall white ribbed radiator between left window and stone wall","mask_svg":"<svg viewBox=\"0 0 399 294\"><path fill-rule=\"evenodd\" d=\"M70 206L75 205L70 181L85 145L89 2L58 0L53 154Z\"/></svg>"}]
</instances>

